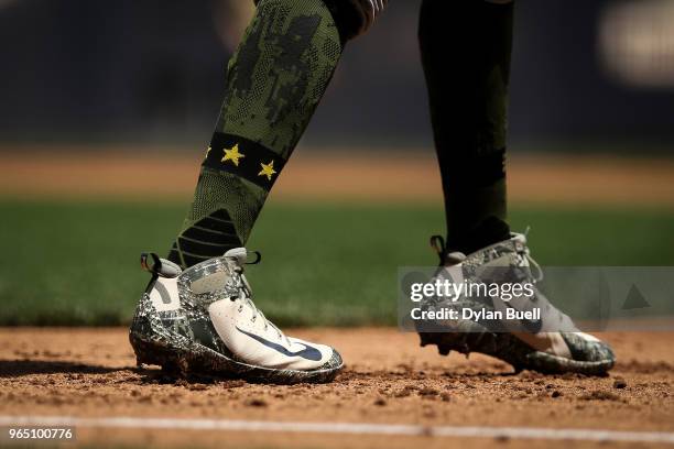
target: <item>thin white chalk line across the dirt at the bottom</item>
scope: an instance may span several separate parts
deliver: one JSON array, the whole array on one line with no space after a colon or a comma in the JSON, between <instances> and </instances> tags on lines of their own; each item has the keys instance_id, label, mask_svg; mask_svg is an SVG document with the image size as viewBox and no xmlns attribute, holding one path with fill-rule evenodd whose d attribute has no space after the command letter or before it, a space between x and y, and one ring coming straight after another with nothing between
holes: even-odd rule
<instances>
[{"instance_id":1,"label":"thin white chalk line across the dirt at the bottom","mask_svg":"<svg viewBox=\"0 0 674 449\"><path fill-rule=\"evenodd\" d=\"M674 443L674 432L670 431L490 426L420 426L367 423L302 423L243 419L137 418L126 416L107 418L80 418L73 416L0 416L0 426L72 426L75 428L276 431Z\"/></svg>"}]
</instances>

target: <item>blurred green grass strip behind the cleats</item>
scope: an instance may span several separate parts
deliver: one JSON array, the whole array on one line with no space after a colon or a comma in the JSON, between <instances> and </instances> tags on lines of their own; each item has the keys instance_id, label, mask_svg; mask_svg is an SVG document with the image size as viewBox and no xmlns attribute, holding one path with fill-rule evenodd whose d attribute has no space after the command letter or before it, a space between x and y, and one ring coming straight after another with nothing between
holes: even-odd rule
<instances>
[{"instance_id":1,"label":"blurred green grass strip behind the cleats","mask_svg":"<svg viewBox=\"0 0 674 449\"><path fill-rule=\"evenodd\" d=\"M184 205L0 201L0 325L119 325ZM514 210L547 265L674 265L674 211ZM436 263L441 210L270 205L249 247L256 303L282 326L395 324L398 266Z\"/></svg>"}]
</instances>

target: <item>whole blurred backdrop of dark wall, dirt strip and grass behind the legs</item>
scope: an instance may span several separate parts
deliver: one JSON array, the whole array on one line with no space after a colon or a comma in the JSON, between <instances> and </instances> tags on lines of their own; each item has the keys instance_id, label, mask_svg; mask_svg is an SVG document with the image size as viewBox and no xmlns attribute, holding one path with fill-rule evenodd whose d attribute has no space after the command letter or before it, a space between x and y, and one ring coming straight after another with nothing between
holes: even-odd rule
<instances>
[{"instance_id":1,"label":"whole blurred backdrop of dark wall, dirt strip and grass behind the legs","mask_svg":"<svg viewBox=\"0 0 674 449\"><path fill-rule=\"evenodd\" d=\"M396 267L436 262L418 6L393 0L347 46L253 231L281 324L393 324ZM129 320L138 253L180 228L252 8L0 0L0 324ZM540 262L673 264L673 21L674 0L518 0L509 195Z\"/></svg>"}]
</instances>

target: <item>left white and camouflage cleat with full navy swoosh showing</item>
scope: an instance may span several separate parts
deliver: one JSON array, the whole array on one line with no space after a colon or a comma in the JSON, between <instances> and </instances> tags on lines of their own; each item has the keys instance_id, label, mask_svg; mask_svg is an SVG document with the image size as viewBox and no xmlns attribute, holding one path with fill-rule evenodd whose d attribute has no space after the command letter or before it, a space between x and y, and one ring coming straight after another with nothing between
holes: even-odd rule
<instances>
[{"instance_id":1,"label":"left white and camouflage cleat with full navy swoosh showing","mask_svg":"<svg viewBox=\"0 0 674 449\"><path fill-rule=\"evenodd\" d=\"M152 280L129 335L138 363L180 376L283 384L335 379L344 366L335 349L285 336L256 307L243 275L249 254L237 248L185 271L156 254L141 255Z\"/></svg>"}]
</instances>

